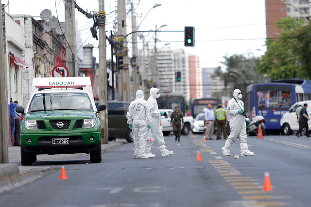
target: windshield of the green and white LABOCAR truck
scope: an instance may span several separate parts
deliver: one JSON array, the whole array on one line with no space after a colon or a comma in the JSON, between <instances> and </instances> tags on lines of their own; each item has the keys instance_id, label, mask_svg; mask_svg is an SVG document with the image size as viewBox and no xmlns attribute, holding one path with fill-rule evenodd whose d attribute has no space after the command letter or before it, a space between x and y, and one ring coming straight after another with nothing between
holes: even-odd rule
<instances>
[{"instance_id":1,"label":"windshield of the green and white LABOCAR truck","mask_svg":"<svg viewBox=\"0 0 311 207\"><path fill-rule=\"evenodd\" d=\"M52 110L93 111L86 93L36 94L29 106L29 112Z\"/></svg>"}]
</instances>

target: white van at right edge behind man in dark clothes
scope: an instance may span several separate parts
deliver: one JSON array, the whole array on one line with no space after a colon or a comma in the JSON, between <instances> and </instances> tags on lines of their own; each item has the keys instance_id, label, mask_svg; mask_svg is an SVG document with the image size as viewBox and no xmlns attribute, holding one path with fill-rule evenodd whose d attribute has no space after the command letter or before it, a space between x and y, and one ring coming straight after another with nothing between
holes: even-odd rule
<instances>
[{"instance_id":1,"label":"white van at right edge behind man in dark clothes","mask_svg":"<svg viewBox=\"0 0 311 207\"><path fill-rule=\"evenodd\" d=\"M311 117L311 100L294 103L294 105L291 106L290 110L284 113L281 117L280 125L282 134L291 135L293 131L297 131L299 129L296 109L299 105L303 106L305 103L308 104L307 112L308 116ZM308 124L309 129L311 129L311 121L309 121Z\"/></svg>"}]
</instances>

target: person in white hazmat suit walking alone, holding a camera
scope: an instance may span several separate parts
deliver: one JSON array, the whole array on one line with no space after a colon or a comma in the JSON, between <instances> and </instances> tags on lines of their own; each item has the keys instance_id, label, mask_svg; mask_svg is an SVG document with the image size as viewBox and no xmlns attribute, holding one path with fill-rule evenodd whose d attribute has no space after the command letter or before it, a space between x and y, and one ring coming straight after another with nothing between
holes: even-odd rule
<instances>
[{"instance_id":1,"label":"person in white hazmat suit walking alone, holding a camera","mask_svg":"<svg viewBox=\"0 0 311 207\"><path fill-rule=\"evenodd\" d=\"M243 116L244 103L241 100L242 93L239 89L233 91L233 98L228 101L227 113L230 115L230 135L225 142L225 146L222 148L225 156L230 156L230 147L236 141L239 136L241 156L255 155L254 152L248 150L246 143L246 123Z\"/></svg>"}]
</instances>

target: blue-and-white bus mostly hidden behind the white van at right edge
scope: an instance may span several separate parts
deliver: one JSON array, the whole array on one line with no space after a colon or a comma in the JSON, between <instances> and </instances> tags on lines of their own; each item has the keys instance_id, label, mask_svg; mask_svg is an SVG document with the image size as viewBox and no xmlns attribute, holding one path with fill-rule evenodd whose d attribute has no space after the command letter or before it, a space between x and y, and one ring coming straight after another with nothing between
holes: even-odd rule
<instances>
[{"instance_id":1,"label":"blue-and-white bus mostly hidden behind the white van at right edge","mask_svg":"<svg viewBox=\"0 0 311 207\"><path fill-rule=\"evenodd\" d=\"M311 81L303 79L281 79L272 82L284 82L295 85L296 101L311 100Z\"/></svg>"}]
</instances>

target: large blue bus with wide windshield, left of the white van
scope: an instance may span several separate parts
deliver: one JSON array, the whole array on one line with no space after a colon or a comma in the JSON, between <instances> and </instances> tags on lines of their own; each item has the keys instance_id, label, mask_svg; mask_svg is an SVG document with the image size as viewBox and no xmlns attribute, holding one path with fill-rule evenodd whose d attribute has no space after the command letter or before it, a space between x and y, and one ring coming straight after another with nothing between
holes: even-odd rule
<instances>
[{"instance_id":1,"label":"large blue bus with wide windshield, left of the white van","mask_svg":"<svg viewBox=\"0 0 311 207\"><path fill-rule=\"evenodd\" d=\"M245 110L252 120L265 118L266 133L280 132L281 116L296 102L295 85L282 82L253 83L246 88Z\"/></svg>"}]
</instances>

